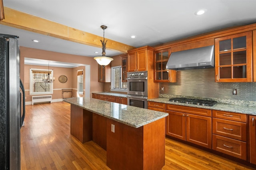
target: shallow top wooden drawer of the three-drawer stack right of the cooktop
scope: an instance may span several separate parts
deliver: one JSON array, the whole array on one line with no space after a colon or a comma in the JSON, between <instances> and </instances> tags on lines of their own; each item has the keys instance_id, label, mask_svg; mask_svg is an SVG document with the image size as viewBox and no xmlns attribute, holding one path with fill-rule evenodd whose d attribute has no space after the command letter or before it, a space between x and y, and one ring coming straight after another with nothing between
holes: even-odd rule
<instances>
[{"instance_id":1,"label":"shallow top wooden drawer of the three-drawer stack right of the cooktop","mask_svg":"<svg viewBox=\"0 0 256 170\"><path fill-rule=\"evenodd\" d=\"M229 112L229 111L212 110L212 117L246 123L247 115L242 113Z\"/></svg>"}]
</instances>

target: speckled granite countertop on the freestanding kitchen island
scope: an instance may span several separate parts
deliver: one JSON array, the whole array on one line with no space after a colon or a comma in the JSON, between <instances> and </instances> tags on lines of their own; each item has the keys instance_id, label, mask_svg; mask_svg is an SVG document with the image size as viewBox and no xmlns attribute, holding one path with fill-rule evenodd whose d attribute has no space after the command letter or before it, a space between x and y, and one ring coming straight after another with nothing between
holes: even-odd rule
<instances>
[{"instance_id":1,"label":"speckled granite countertop on the freestanding kitchen island","mask_svg":"<svg viewBox=\"0 0 256 170\"><path fill-rule=\"evenodd\" d=\"M168 116L168 113L160 111L127 106L94 98L67 98L64 99L64 102L74 104L98 115L136 128Z\"/></svg>"}]
</instances>

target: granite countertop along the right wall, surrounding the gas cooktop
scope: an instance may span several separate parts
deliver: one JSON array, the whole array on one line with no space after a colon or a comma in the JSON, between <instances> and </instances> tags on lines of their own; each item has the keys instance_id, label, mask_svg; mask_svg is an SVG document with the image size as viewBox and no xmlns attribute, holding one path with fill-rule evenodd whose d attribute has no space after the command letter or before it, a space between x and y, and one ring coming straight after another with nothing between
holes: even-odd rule
<instances>
[{"instance_id":1,"label":"granite countertop along the right wall, surrounding the gas cooktop","mask_svg":"<svg viewBox=\"0 0 256 170\"><path fill-rule=\"evenodd\" d=\"M212 109L212 110L230 111L230 112L235 112L235 113L245 113L245 114L249 114L249 115L256 115L256 107L254 107L254 106L242 106L242 105L221 104L221 103L217 103L214 106L198 106L198 105L194 105L194 104L170 102L169 98L155 98L155 99L148 99L148 101L160 102L160 103L165 103L165 104L181 105L181 106L199 107L199 108Z\"/></svg>"}]
</instances>

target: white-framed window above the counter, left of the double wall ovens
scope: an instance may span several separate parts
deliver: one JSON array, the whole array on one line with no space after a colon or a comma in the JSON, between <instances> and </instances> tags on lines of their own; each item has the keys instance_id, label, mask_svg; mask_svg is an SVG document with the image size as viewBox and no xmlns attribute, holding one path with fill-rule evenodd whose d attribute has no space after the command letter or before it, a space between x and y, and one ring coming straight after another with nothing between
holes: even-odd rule
<instances>
[{"instance_id":1,"label":"white-framed window above the counter, left of the double wall ovens","mask_svg":"<svg viewBox=\"0 0 256 170\"><path fill-rule=\"evenodd\" d=\"M122 67L111 67L111 90L112 91L124 91L127 90L127 82L122 82Z\"/></svg>"}]
</instances>

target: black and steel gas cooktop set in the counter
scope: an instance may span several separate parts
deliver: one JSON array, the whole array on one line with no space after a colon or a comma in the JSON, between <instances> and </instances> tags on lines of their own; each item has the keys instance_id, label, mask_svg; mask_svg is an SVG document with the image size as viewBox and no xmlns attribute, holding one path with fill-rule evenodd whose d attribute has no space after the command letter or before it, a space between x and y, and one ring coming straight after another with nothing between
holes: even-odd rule
<instances>
[{"instance_id":1,"label":"black and steel gas cooktop set in the counter","mask_svg":"<svg viewBox=\"0 0 256 170\"><path fill-rule=\"evenodd\" d=\"M196 104L201 106L213 106L216 101L213 100L199 100L199 99L188 99L188 98L171 98L170 102L185 103L185 104Z\"/></svg>"}]
</instances>

